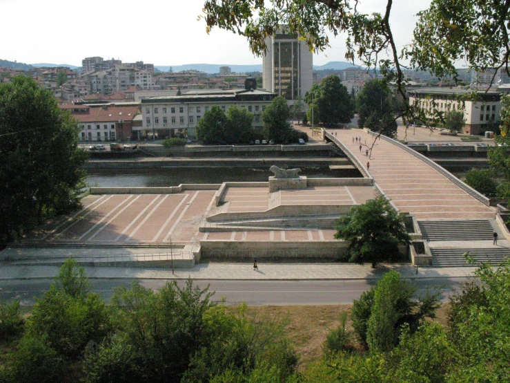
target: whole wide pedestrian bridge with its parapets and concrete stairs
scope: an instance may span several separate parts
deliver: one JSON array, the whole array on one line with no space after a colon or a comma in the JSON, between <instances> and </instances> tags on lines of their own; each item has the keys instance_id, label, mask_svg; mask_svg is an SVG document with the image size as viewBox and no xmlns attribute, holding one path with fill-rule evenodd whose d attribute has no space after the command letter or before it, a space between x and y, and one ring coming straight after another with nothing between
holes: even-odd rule
<instances>
[{"instance_id":1,"label":"whole wide pedestrian bridge with its parapets and concrete stairs","mask_svg":"<svg viewBox=\"0 0 510 383\"><path fill-rule=\"evenodd\" d=\"M373 179L395 209L413 217L414 237L424 242L413 247L416 263L466 265L467 252L475 261L491 263L510 256L510 233L489 198L429 158L366 129L323 131L323 136ZM494 231L498 245L493 245Z\"/></svg>"}]
</instances>

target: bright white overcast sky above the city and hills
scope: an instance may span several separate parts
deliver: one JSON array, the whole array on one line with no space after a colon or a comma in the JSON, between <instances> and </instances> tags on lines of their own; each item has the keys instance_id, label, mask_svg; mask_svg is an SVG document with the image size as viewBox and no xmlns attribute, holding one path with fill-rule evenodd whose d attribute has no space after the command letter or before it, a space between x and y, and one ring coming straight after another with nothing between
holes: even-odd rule
<instances>
[{"instance_id":1,"label":"bright white overcast sky above the city and hills","mask_svg":"<svg viewBox=\"0 0 510 383\"><path fill-rule=\"evenodd\" d=\"M394 0L391 27L409 44L415 14L430 0ZM81 66L81 59L115 57L155 65L262 64L244 37L197 21L204 0L0 0L0 59ZM362 12L384 13L385 0L361 0ZM344 37L314 55L313 64L345 61Z\"/></svg>"}]
</instances>

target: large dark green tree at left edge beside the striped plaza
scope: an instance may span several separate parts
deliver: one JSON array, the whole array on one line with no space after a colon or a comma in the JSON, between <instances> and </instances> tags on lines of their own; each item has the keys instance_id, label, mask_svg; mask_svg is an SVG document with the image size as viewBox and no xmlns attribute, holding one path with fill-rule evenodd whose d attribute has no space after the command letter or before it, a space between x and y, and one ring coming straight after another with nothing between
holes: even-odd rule
<instances>
[{"instance_id":1,"label":"large dark green tree at left edge beside the striped plaza","mask_svg":"<svg viewBox=\"0 0 510 383\"><path fill-rule=\"evenodd\" d=\"M51 91L17 76L0 84L0 241L80 205L88 154Z\"/></svg>"}]
</instances>

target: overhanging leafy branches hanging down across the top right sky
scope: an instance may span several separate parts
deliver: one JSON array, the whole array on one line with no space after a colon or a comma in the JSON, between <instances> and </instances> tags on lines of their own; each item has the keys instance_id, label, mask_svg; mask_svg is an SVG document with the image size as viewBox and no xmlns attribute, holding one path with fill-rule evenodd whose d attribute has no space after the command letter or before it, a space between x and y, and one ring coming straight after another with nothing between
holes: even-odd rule
<instances>
[{"instance_id":1,"label":"overhanging leafy branches hanging down across the top right sky","mask_svg":"<svg viewBox=\"0 0 510 383\"><path fill-rule=\"evenodd\" d=\"M413 39L402 50L390 25L393 0L383 1L381 8L370 14L357 5L357 0L206 0L204 15L199 17L205 19L207 33L218 27L245 36L257 55L264 53L266 37L276 35L280 26L306 41L314 53L329 46L328 35L346 35L349 62L359 59L367 68L377 68L386 83L395 82L397 93L405 100L404 125L426 120L426 114L420 106L409 104L402 59L409 60L406 68L410 70L430 71L456 83L455 64L462 60L475 71L503 68L510 75L507 1L433 0L428 10L418 13Z\"/></svg>"}]
</instances>

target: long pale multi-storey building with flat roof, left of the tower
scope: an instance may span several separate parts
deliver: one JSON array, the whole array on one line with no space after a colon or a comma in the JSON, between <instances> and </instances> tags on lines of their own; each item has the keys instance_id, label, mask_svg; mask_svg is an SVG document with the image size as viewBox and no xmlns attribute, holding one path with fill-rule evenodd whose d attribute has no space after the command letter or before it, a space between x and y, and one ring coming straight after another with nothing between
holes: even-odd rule
<instances>
[{"instance_id":1,"label":"long pale multi-storey building with flat roof, left of the tower","mask_svg":"<svg viewBox=\"0 0 510 383\"><path fill-rule=\"evenodd\" d=\"M175 137L179 135L195 138L195 127L200 118L212 106L227 111L230 106L246 108L253 113L253 127L262 128L262 111L271 104L275 93L259 89L208 89L190 91L183 95L153 97L141 100L143 125L139 138Z\"/></svg>"}]
</instances>

